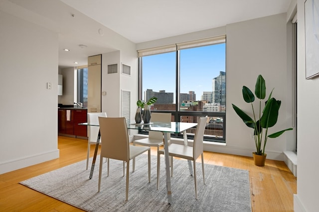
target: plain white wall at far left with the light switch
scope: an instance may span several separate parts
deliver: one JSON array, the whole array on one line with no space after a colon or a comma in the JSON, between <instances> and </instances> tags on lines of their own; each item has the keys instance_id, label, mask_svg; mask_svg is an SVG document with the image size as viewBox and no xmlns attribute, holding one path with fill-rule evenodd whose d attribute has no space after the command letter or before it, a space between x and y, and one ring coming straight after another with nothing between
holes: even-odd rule
<instances>
[{"instance_id":1,"label":"plain white wall at far left with the light switch","mask_svg":"<svg viewBox=\"0 0 319 212\"><path fill-rule=\"evenodd\" d=\"M58 35L1 11L0 49L1 174L59 157Z\"/></svg>"}]
</instances>

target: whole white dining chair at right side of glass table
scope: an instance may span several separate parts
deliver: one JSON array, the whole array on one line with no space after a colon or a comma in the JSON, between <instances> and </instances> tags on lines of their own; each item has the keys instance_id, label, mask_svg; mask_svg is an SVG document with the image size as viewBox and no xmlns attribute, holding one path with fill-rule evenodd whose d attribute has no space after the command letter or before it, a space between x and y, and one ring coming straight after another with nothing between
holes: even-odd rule
<instances>
[{"instance_id":1,"label":"whole white dining chair at right side of glass table","mask_svg":"<svg viewBox=\"0 0 319 212\"><path fill-rule=\"evenodd\" d=\"M168 155L171 157L171 176L173 175L173 160L172 157L184 158L187 160L193 161L194 166L194 182L195 182L195 198L197 200L197 182L196 182L196 159L201 155L201 165L203 172L203 181L205 184L205 175L204 175L204 156L203 156L203 138L205 126L207 123L208 117L200 117L199 122L196 128L196 133L194 136L194 143L192 146L185 146L176 143L171 143L168 145ZM158 151L158 170L160 170L160 154L164 154L164 150ZM186 163L185 163L186 164ZM160 179L160 174L158 172L158 183Z\"/></svg>"}]
</instances>

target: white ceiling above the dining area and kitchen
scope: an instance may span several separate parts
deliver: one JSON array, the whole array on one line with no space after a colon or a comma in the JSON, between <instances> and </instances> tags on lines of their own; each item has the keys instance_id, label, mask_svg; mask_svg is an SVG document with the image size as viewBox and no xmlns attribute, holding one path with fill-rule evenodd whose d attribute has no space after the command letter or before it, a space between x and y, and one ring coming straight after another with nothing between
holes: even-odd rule
<instances>
[{"instance_id":1,"label":"white ceiling above the dining area and kitchen","mask_svg":"<svg viewBox=\"0 0 319 212\"><path fill-rule=\"evenodd\" d=\"M0 0L0 8L58 32L59 67L66 68L86 65L88 56L115 50L105 41L92 39L87 24L142 43L287 12L291 1Z\"/></svg>"}]
</instances>

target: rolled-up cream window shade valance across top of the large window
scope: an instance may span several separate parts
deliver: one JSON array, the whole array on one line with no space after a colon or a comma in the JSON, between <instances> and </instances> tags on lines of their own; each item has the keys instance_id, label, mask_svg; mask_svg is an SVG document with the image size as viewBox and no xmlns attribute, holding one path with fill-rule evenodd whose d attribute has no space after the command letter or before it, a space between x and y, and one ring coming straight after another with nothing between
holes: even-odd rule
<instances>
[{"instance_id":1,"label":"rolled-up cream window shade valance across top of the large window","mask_svg":"<svg viewBox=\"0 0 319 212\"><path fill-rule=\"evenodd\" d=\"M182 43L177 43L172 45L138 50L138 56L143 57L143 56L149 56L149 55L157 55L162 53L174 52L176 50L181 50L181 49L188 49L188 48L194 48L199 46L208 46L208 45L225 43L225 42L226 42L226 35L221 35L221 36L216 36L212 38L205 38L200 40L187 41L187 42L182 42Z\"/></svg>"}]
</instances>

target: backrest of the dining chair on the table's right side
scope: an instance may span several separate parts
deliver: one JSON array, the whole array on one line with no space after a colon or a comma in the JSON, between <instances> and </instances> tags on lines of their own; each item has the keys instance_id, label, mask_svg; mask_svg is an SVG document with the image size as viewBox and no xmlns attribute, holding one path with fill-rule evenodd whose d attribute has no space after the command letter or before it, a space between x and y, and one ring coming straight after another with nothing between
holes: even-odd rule
<instances>
[{"instance_id":1,"label":"backrest of the dining chair on the table's right side","mask_svg":"<svg viewBox=\"0 0 319 212\"><path fill-rule=\"evenodd\" d=\"M208 117L200 117L196 128L193 144L193 157L196 159L201 153L203 153L203 140L204 132Z\"/></svg>"}]
</instances>

